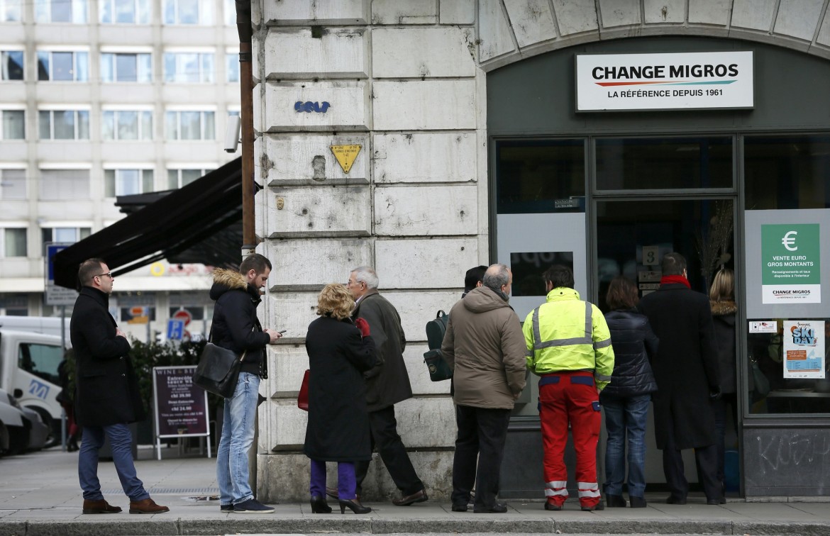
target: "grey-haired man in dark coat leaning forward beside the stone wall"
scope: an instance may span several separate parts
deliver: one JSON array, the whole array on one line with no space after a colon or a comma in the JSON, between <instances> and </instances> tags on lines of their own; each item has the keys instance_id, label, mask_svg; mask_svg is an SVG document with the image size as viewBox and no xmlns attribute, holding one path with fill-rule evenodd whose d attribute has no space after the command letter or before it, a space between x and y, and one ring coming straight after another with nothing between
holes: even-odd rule
<instances>
[{"instance_id":1,"label":"grey-haired man in dark coat leaning forward beside the stone wall","mask_svg":"<svg viewBox=\"0 0 830 536\"><path fill-rule=\"evenodd\" d=\"M356 302L352 318L365 319L369 323L377 348L374 368L364 373L372 443L378 446L383 464L403 494L401 498L393 499L392 504L408 506L427 500L427 491L409 460L406 447L398 435L398 422L395 421L394 405L413 396L407 367L403 363L403 348L407 340L398 310L378 294L378 282L378 274L373 268L359 266L349 274L347 286ZM369 461L354 464L358 495L368 471Z\"/></svg>"}]
</instances>

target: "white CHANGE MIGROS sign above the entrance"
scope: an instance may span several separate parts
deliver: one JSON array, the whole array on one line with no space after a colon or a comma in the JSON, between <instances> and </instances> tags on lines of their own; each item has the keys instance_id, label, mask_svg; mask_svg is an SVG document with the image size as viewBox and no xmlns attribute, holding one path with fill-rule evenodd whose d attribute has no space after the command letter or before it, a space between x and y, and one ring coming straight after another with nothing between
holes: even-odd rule
<instances>
[{"instance_id":1,"label":"white CHANGE MIGROS sign above the entrance","mask_svg":"<svg viewBox=\"0 0 830 536\"><path fill-rule=\"evenodd\" d=\"M576 56L578 112L753 107L751 51Z\"/></svg>"}]
</instances>

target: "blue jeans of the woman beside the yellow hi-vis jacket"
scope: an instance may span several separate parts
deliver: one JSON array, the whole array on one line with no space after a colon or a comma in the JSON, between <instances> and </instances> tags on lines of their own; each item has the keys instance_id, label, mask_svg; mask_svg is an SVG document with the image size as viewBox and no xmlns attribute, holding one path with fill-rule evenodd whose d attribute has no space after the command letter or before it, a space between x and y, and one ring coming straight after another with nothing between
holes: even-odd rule
<instances>
[{"instance_id":1,"label":"blue jeans of the woman beside the yellow hi-vis jacket","mask_svg":"<svg viewBox=\"0 0 830 536\"><path fill-rule=\"evenodd\" d=\"M646 492L646 421L651 395L603 397L605 430L606 495L623 495L626 442L628 443L628 495L642 497ZM626 441L627 436L627 441Z\"/></svg>"}]
</instances>

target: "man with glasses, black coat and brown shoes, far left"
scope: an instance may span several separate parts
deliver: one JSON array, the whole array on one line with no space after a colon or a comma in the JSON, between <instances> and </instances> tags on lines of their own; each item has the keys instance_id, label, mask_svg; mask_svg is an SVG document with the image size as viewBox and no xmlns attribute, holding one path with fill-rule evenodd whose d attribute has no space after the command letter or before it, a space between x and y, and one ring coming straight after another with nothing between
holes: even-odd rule
<instances>
[{"instance_id":1,"label":"man with glasses, black coat and brown shoes, far left","mask_svg":"<svg viewBox=\"0 0 830 536\"><path fill-rule=\"evenodd\" d=\"M161 514L170 509L155 504L135 474L133 436L127 426L146 417L138 380L129 358L129 341L118 329L108 305L115 281L100 259L81 263L81 294L72 309L69 334L76 356L76 420L83 426L78 477L84 491L84 514L118 514L106 502L98 480L98 451L110 438L112 460L130 514Z\"/></svg>"}]
</instances>

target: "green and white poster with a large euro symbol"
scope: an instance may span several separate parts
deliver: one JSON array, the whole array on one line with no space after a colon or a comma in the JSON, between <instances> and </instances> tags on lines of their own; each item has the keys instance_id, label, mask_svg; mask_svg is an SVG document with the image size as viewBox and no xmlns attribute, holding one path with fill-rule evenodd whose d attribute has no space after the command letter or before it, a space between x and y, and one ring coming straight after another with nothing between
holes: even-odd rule
<instances>
[{"instance_id":1,"label":"green and white poster with a large euro symbol","mask_svg":"<svg viewBox=\"0 0 830 536\"><path fill-rule=\"evenodd\" d=\"M821 303L818 235L818 223L761 226L764 304Z\"/></svg>"}]
</instances>

